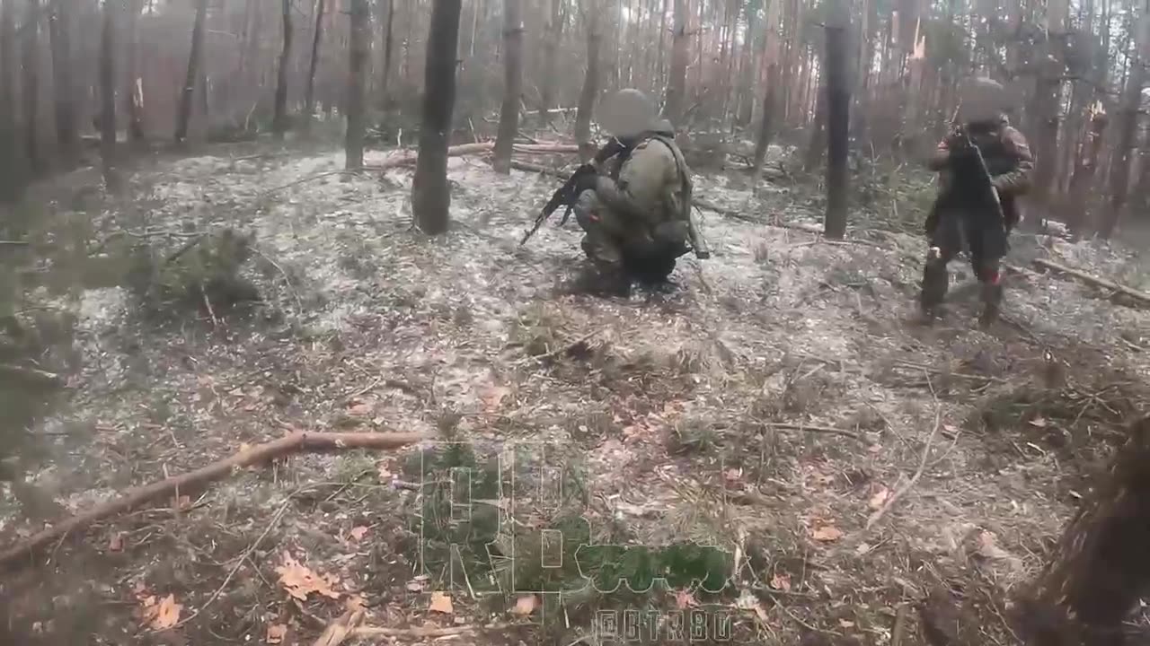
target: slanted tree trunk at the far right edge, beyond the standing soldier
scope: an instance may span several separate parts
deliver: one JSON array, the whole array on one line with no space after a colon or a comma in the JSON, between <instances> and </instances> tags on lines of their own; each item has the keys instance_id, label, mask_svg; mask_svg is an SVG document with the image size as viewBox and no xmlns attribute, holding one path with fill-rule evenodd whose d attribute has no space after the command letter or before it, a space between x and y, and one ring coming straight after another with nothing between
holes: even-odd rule
<instances>
[{"instance_id":1,"label":"slanted tree trunk at the far right edge, beyond the standing soldier","mask_svg":"<svg viewBox=\"0 0 1150 646\"><path fill-rule=\"evenodd\" d=\"M1145 61L1150 46L1150 13L1138 8L1134 55L1130 56L1130 72L1122 90L1122 107L1118 116L1118 138L1110 161L1110 205L1105 210L1098 234L1109 239L1118 226L1126 207L1130 184L1130 156L1137 137L1138 108L1142 102L1142 86L1145 82Z\"/></svg>"}]
</instances>

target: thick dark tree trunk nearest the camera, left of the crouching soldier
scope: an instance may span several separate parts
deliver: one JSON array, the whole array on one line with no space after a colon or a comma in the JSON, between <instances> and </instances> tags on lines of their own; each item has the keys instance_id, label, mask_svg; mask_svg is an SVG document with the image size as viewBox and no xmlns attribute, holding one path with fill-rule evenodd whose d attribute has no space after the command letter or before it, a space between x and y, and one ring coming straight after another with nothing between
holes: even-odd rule
<instances>
[{"instance_id":1,"label":"thick dark tree trunk nearest the camera, left of the crouching soldier","mask_svg":"<svg viewBox=\"0 0 1150 646\"><path fill-rule=\"evenodd\" d=\"M455 107L455 55L461 5L461 0L432 0L428 29L423 124L412 179L412 212L416 226L432 236L447 230L451 209L447 145Z\"/></svg>"}]
</instances>

